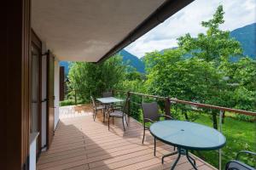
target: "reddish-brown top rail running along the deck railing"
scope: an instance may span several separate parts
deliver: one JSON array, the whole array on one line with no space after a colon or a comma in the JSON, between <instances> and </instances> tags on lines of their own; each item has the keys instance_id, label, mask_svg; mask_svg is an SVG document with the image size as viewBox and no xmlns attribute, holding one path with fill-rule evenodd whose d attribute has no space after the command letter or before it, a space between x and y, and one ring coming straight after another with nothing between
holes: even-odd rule
<instances>
[{"instance_id":1,"label":"reddish-brown top rail running along the deck railing","mask_svg":"<svg viewBox=\"0 0 256 170\"><path fill-rule=\"evenodd\" d=\"M242 111L242 110L237 110L237 109L231 109L228 107L221 107L221 106L217 106L217 105L207 105L207 104L195 103L192 101L186 101L186 100L182 100L182 99L161 97L161 96L150 95L150 94L140 94L137 92L130 92L130 91L128 92L128 91L124 91L124 90L114 90L114 91L130 93L130 94L140 95L140 96L144 96L144 97L151 97L151 98L161 99L161 100L170 99L171 102L175 102L175 103L179 103L179 104L194 105L196 107L203 107L203 108L214 109L214 110L219 110L219 111L230 111L230 112L239 113L239 114L247 115L247 116L256 116L256 112L253 112L253 111Z\"/></svg>"}]
</instances>

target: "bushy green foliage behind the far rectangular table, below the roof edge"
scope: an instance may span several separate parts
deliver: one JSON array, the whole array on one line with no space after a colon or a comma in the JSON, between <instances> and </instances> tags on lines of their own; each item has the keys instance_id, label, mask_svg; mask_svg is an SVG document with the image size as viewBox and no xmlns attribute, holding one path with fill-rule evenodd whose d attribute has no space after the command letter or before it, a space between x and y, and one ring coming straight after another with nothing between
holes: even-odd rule
<instances>
[{"instance_id":1,"label":"bushy green foliage behind the far rectangular table, below the roof edge","mask_svg":"<svg viewBox=\"0 0 256 170\"><path fill-rule=\"evenodd\" d=\"M75 62L68 73L69 88L77 89L81 99L89 100L90 95L101 96L124 79L125 65L119 55L101 64Z\"/></svg>"}]
</instances>

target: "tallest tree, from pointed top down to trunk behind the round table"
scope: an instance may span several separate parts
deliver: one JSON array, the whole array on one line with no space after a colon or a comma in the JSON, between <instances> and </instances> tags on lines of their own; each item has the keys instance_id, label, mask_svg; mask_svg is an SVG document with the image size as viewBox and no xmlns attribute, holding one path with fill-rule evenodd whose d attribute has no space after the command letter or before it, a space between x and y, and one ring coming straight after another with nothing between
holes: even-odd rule
<instances>
[{"instance_id":1,"label":"tallest tree, from pointed top down to trunk behind the round table","mask_svg":"<svg viewBox=\"0 0 256 170\"><path fill-rule=\"evenodd\" d=\"M194 58L212 62L218 72L222 73L221 63L230 62L230 57L241 56L242 49L240 42L230 37L230 31L221 31L219 26L224 23L224 10L220 5L211 20L202 21L201 26L207 28L207 32L198 34L198 37L191 37L186 34L178 38L178 45L183 48L187 55ZM210 77L205 77L207 82L206 96L201 98L201 102L210 105L226 104L227 92L226 83L218 81L212 83ZM225 94L226 93L226 94ZM217 111L212 111L213 127L217 128Z\"/></svg>"}]
</instances>

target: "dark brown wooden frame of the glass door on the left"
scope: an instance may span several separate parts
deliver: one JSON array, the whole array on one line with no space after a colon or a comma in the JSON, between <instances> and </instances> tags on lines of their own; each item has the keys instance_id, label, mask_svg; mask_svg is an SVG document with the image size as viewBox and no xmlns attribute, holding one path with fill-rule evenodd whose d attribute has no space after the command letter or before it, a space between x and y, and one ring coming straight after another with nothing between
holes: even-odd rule
<instances>
[{"instance_id":1,"label":"dark brown wooden frame of the glass door on the left","mask_svg":"<svg viewBox=\"0 0 256 170\"><path fill-rule=\"evenodd\" d=\"M39 62L38 62L38 69L39 69L39 89L38 89L38 145L37 145L37 160L41 154L41 145L42 145L42 41L37 36L35 31L31 29L32 35L32 46L38 49L39 52ZM31 57L32 59L32 57ZM30 81L30 83L32 83Z\"/></svg>"}]
</instances>

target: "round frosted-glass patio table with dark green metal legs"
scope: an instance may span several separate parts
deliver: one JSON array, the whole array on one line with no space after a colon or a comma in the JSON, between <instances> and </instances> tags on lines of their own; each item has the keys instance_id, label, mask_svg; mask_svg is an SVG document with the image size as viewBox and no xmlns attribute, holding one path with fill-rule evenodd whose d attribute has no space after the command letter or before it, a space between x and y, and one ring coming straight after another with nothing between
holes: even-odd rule
<instances>
[{"instance_id":1,"label":"round frosted-glass patio table with dark green metal legs","mask_svg":"<svg viewBox=\"0 0 256 170\"><path fill-rule=\"evenodd\" d=\"M156 139L177 147L177 151L162 157L163 163L166 156L177 154L171 169L176 167L182 155L186 156L192 167L197 169L195 159L189 156L189 150L218 150L226 143L226 138L218 130L195 122L176 120L154 122L149 130Z\"/></svg>"}]
</instances>

